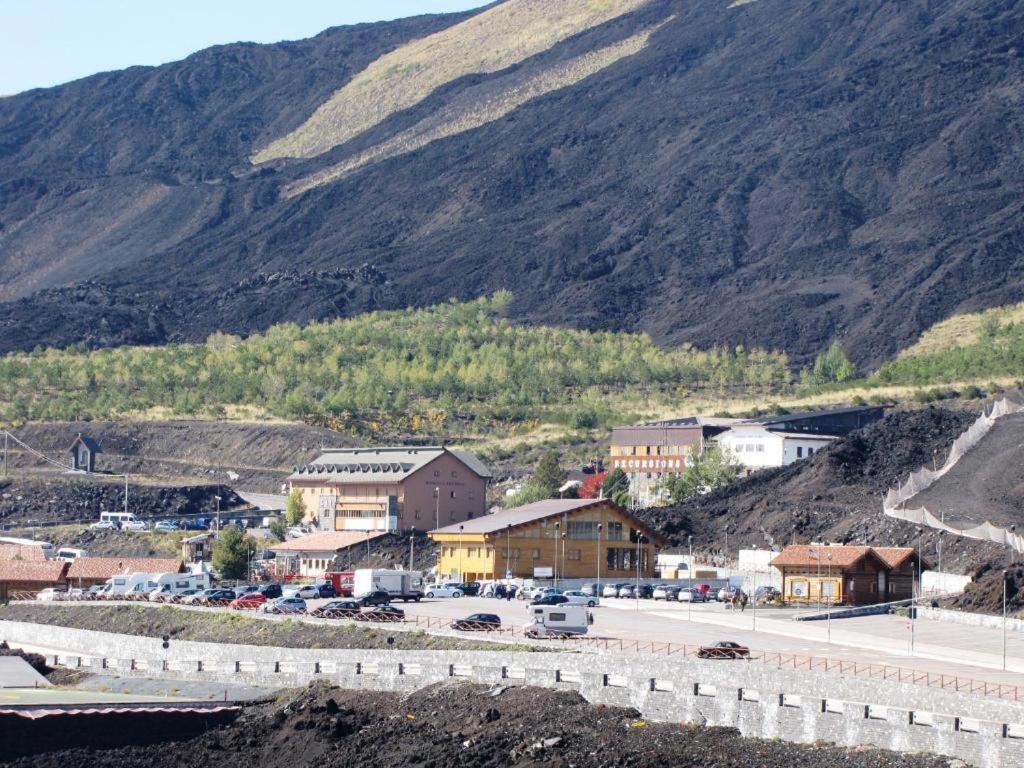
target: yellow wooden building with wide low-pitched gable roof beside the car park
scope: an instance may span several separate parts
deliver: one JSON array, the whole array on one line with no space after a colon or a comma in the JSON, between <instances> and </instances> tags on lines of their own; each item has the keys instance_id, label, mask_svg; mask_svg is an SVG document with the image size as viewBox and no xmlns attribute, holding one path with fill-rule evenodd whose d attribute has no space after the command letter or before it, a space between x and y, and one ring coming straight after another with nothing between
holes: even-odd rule
<instances>
[{"instance_id":1,"label":"yellow wooden building with wide low-pitched gable roof beside the car park","mask_svg":"<svg viewBox=\"0 0 1024 768\"><path fill-rule=\"evenodd\" d=\"M654 577L663 541L622 507L600 499L548 499L430 531L440 578L628 580Z\"/></svg>"}]
</instances>

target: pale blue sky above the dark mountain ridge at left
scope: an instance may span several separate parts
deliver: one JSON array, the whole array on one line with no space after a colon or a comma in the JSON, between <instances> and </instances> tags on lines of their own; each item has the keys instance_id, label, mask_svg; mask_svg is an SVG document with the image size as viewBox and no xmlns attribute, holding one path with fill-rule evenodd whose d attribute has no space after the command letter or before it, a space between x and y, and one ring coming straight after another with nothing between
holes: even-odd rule
<instances>
[{"instance_id":1,"label":"pale blue sky above the dark mountain ridge at left","mask_svg":"<svg viewBox=\"0 0 1024 768\"><path fill-rule=\"evenodd\" d=\"M484 0L0 0L0 94L220 43L297 40L343 24L465 10Z\"/></svg>"}]
</instances>

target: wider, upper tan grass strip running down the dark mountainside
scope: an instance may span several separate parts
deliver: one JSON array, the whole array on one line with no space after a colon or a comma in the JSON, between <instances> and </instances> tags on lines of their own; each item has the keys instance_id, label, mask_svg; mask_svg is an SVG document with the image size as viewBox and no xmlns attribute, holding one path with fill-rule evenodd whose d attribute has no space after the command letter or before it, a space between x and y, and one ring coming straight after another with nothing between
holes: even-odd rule
<instances>
[{"instance_id":1,"label":"wider, upper tan grass strip running down the dark mountainside","mask_svg":"<svg viewBox=\"0 0 1024 768\"><path fill-rule=\"evenodd\" d=\"M519 63L648 0L509 0L387 53L252 161L309 158L344 143L438 87Z\"/></svg>"}]
</instances>

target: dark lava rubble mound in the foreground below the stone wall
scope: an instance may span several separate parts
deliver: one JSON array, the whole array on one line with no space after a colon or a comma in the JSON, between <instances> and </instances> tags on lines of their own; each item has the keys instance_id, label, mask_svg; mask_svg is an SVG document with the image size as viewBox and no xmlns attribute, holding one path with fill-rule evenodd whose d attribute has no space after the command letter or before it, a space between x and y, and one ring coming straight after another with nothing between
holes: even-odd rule
<instances>
[{"instance_id":1,"label":"dark lava rubble mound in the foreground below the stone wall","mask_svg":"<svg viewBox=\"0 0 1024 768\"><path fill-rule=\"evenodd\" d=\"M174 749L66 750L18 768L302 766L630 766L631 768L947 768L946 759L743 738L729 728L642 721L579 694L447 684L408 696L313 686L248 708Z\"/></svg>"}]
</instances>

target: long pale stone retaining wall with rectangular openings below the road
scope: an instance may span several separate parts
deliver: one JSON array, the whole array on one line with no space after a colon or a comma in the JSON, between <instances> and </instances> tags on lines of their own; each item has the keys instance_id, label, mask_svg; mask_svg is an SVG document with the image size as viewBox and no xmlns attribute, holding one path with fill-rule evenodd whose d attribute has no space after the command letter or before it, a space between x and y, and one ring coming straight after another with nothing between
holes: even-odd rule
<instances>
[{"instance_id":1,"label":"long pale stone retaining wall with rectangular openings below the road","mask_svg":"<svg viewBox=\"0 0 1024 768\"><path fill-rule=\"evenodd\" d=\"M0 622L0 639L73 668L281 687L415 690L451 680L578 690L651 720L737 728L743 735L1024 765L1024 701L737 660L570 652L297 649L129 637Z\"/></svg>"}]
</instances>

